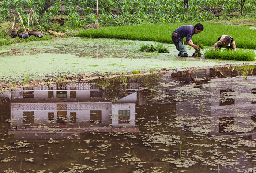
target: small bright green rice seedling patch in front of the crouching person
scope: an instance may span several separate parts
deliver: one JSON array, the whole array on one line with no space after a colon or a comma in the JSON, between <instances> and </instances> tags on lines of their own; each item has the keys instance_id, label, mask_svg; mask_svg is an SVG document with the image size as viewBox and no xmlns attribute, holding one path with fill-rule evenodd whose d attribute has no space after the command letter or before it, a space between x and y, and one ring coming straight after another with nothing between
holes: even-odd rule
<instances>
[{"instance_id":1,"label":"small bright green rice seedling patch in front of the crouching person","mask_svg":"<svg viewBox=\"0 0 256 173\"><path fill-rule=\"evenodd\" d=\"M221 59L221 60L239 60L239 61L255 61L256 53L253 50L217 50L212 51L207 49L203 52L203 56L209 59Z\"/></svg>"}]
</instances>

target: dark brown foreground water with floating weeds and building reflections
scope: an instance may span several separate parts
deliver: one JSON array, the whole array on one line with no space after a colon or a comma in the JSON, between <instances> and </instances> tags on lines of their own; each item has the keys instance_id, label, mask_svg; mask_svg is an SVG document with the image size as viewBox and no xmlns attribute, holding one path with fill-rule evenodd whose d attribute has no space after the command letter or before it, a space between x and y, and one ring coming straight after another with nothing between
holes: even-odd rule
<instances>
[{"instance_id":1,"label":"dark brown foreground water with floating weeds and building reflections","mask_svg":"<svg viewBox=\"0 0 256 173\"><path fill-rule=\"evenodd\" d=\"M252 173L256 68L0 94L0 172Z\"/></svg>"}]
</instances>

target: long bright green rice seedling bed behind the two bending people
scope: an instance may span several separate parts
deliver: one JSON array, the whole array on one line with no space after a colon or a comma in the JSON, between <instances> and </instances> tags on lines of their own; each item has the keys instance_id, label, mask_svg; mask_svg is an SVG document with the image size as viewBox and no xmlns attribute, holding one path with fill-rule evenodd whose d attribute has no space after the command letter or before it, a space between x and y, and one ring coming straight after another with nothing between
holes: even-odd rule
<instances>
[{"instance_id":1,"label":"long bright green rice seedling bed behind the two bending people","mask_svg":"<svg viewBox=\"0 0 256 173\"><path fill-rule=\"evenodd\" d=\"M99 30L82 30L78 33L80 37L119 38L140 41L157 41L173 43L172 32L182 25L195 25L196 23L168 23L168 24L141 24L129 26L112 26ZM194 35L192 41L195 44L202 42L203 45L212 46L218 38L225 34L234 38L237 48L256 49L256 30L248 26L222 25L213 23L202 23L204 31ZM250 41L248 41L250 39Z\"/></svg>"}]
</instances>

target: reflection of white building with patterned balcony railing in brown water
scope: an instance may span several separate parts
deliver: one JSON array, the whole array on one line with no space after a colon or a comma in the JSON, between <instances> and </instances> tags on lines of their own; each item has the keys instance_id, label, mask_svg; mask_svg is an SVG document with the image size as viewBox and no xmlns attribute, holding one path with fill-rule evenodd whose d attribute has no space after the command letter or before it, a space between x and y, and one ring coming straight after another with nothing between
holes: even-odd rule
<instances>
[{"instance_id":1,"label":"reflection of white building with patterned balcony railing in brown water","mask_svg":"<svg viewBox=\"0 0 256 173\"><path fill-rule=\"evenodd\" d=\"M8 133L63 136L74 132L139 130L135 127L137 92L112 102L94 83L58 83L23 87L11 91L9 96Z\"/></svg>"}]
</instances>

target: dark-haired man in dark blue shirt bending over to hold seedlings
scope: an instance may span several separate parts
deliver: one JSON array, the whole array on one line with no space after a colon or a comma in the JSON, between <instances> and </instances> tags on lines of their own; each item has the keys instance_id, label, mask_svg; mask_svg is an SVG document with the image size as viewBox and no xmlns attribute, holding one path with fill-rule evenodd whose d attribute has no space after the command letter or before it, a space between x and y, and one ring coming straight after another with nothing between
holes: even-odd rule
<instances>
[{"instance_id":1,"label":"dark-haired man in dark blue shirt bending over to hold seedlings","mask_svg":"<svg viewBox=\"0 0 256 173\"><path fill-rule=\"evenodd\" d=\"M184 45L183 38L186 38L186 43L192 46L195 50L200 50L200 47L195 45L191 38L194 34L198 34L203 31L203 25L197 23L195 26L192 25L183 25L178 27L176 30L173 31L172 34L172 41L176 46L176 49L180 51L179 56L181 57L188 57L187 49Z\"/></svg>"}]
</instances>

